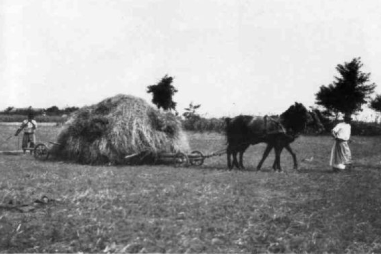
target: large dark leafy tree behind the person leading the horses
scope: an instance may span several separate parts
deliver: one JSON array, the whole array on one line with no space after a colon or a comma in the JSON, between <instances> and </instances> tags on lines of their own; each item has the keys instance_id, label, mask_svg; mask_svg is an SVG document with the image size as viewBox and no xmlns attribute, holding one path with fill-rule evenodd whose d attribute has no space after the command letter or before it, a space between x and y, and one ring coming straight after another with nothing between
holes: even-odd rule
<instances>
[{"instance_id":1,"label":"large dark leafy tree behind the person leading the horses","mask_svg":"<svg viewBox=\"0 0 381 254\"><path fill-rule=\"evenodd\" d=\"M337 114L354 114L362 111L361 106L370 98L375 84L368 84L370 73L363 73L361 58L353 58L351 62L337 65L336 70L340 77L328 86L322 85L315 94L316 104L325 107L328 111Z\"/></svg>"}]
</instances>

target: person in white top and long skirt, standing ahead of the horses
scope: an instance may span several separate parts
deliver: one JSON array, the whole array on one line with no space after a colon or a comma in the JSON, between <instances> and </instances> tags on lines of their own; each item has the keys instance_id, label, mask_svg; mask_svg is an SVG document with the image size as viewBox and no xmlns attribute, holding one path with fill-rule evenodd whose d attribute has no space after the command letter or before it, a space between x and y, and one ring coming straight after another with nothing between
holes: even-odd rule
<instances>
[{"instance_id":1,"label":"person in white top and long skirt, standing ahead of the horses","mask_svg":"<svg viewBox=\"0 0 381 254\"><path fill-rule=\"evenodd\" d=\"M334 172L345 169L346 165L351 165L352 155L348 146L348 140L351 138L351 116L345 115L344 122L338 123L332 129L332 135L335 138L335 144L331 151L330 166Z\"/></svg>"}]
</instances>

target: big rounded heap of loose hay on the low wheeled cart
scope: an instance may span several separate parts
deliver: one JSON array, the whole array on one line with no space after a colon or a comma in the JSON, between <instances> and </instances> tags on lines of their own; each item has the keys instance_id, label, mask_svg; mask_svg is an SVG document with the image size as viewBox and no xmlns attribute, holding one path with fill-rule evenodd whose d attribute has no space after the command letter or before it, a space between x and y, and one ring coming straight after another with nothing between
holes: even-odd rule
<instances>
[{"instance_id":1,"label":"big rounded heap of loose hay on the low wheeled cart","mask_svg":"<svg viewBox=\"0 0 381 254\"><path fill-rule=\"evenodd\" d=\"M57 142L55 157L82 164L122 164L130 154L189 150L175 115L124 94L76 111Z\"/></svg>"}]
</instances>

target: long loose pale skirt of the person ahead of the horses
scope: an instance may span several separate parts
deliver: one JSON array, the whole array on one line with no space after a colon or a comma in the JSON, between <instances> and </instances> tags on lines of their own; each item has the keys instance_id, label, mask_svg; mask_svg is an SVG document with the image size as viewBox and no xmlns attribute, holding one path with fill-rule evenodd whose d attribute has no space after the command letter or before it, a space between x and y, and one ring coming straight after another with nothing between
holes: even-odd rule
<instances>
[{"instance_id":1,"label":"long loose pale skirt of the person ahead of the horses","mask_svg":"<svg viewBox=\"0 0 381 254\"><path fill-rule=\"evenodd\" d=\"M337 169L345 169L345 165L351 164L351 150L346 141L335 141L331 151L330 166Z\"/></svg>"}]
</instances>

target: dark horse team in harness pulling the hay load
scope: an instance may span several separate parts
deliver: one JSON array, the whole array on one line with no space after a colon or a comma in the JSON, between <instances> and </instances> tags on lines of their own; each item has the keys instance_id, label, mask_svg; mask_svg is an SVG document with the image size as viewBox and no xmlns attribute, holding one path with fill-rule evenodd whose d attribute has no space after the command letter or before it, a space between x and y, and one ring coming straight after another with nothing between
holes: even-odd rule
<instances>
[{"instance_id":1,"label":"dark horse team in harness pulling the hay load","mask_svg":"<svg viewBox=\"0 0 381 254\"><path fill-rule=\"evenodd\" d=\"M272 148L275 149L275 161L273 169L281 171L280 154L286 148L293 157L294 168L298 168L296 154L290 147L290 143L311 127L316 133L324 131L324 126L315 111L308 111L303 104L295 103L279 117L258 117L249 115L239 115L234 118L226 118L226 136L228 141L227 156L228 167L233 169L244 169L243 153L249 145L267 143L262 160L257 166L257 171L261 170L263 162L269 155ZM239 153L239 163L237 161ZM233 156L233 163L231 162Z\"/></svg>"}]
</instances>

